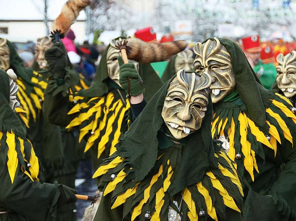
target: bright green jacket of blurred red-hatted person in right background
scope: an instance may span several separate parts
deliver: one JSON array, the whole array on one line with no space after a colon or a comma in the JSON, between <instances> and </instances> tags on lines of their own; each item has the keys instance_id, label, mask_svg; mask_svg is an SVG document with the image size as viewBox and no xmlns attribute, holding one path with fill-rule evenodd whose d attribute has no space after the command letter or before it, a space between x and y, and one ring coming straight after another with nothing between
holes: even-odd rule
<instances>
[{"instance_id":1,"label":"bright green jacket of blurred red-hatted person in right background","mask_svg":"<svg viewBox=\"0 0 296 221\"><path fill-rule=\"evenodd\" d=\"M276 67L273 63L264 64L259 60L258 65L254 67L254 72L258 73L261 68L263 68L263 73L259 77L259 80L266 89L270 90L276 79Z\"/></svg>"}]
</instances>

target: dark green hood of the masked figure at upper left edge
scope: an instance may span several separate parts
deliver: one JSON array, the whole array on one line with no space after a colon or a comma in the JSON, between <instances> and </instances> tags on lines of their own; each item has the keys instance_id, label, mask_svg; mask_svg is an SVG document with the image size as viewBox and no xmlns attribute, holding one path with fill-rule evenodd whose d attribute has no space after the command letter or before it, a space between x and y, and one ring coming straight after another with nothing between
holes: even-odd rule
<instances>
[{"instance_id":1,"label":"dark green hood of the masked figure at upper left edge","mask_svg":"<svg viewBox=\"0 0 296 221\"><path fill-rule=\"evenodd\" d=\"M33 69L32 68L25 68L22 63L22 59L18 56L15 47L13 44L7 40L7 45L9 46L10 50L10 56L9 56L9 62L10 66L9 68L12 68L12 70L15 71L15 74L17 77L22 78L23 83L26 86L26 93L30 94L33 90L33 83L31 82L31 77L33 76Z\"/></svg>"}]
</instances>

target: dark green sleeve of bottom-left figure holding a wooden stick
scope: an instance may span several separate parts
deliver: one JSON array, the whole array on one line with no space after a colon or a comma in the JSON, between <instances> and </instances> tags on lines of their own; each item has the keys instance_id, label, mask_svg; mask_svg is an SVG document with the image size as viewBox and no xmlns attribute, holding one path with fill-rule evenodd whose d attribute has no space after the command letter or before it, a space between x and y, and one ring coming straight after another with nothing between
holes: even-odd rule
<instances>
[{"instance_id":1,"label":"dark green sleeve of bottom-left figure holding a wooden stick","mask_svg":"<svg viewBox=\"0 0 296 221\"><path fill-rule=\"evenodd\" d=\"M4 165L1 163L0 169ZM0 202L8 211L14 211L30 221L54 221L60 192L58 184L40 184L22 173L20 164L13 184L5 165L0 177Z\"/></svg>"}]
</instances>

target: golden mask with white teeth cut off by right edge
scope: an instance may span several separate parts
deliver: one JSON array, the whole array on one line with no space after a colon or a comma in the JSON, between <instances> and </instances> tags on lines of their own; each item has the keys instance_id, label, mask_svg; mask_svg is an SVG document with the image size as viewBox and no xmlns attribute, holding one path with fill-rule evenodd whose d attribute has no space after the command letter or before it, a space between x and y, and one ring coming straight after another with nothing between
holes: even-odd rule
<instances>
[{"instance_id":1,"label":"golden mask with white teeth cut off by right edge","mask_svg":"<svg viewBox=\"0 0 296 221\"><path fill-rule=\"evenodd\" d=\"M279 54L276 60L279 63L276 66L278 88L286 97L292 97L296 94L296 51L285 56Z\"/></svg>"}]
</instances>

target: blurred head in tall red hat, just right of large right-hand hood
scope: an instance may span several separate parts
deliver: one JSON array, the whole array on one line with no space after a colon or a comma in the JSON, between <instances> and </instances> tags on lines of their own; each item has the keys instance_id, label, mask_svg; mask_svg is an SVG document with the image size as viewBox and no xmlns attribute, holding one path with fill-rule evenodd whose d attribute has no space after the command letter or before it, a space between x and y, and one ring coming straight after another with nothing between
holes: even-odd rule
<instances>
[{"instance_id":1,"label":"blurred head in tall red hat, just right of large right-hand hood","mask_svg":"<svg viewBox=\"0 0 296 221\"><path fill-rule=\"evenodd\" d=\"M259 43L259 35L252 35L249 37L242 38L244 54L246 55L252 68L258 65L260 60L261 48L259 46Z\"/></svg>"}]
</instances>

